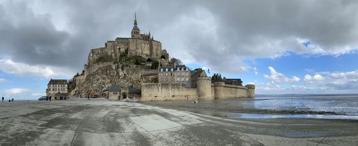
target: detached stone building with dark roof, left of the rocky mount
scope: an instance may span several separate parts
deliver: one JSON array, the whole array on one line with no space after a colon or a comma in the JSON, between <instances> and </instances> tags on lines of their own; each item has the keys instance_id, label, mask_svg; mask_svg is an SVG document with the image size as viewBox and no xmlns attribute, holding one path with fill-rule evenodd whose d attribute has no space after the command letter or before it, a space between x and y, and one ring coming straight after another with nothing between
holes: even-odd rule
<instances>
[{"instance_id":1,"label":"detached stone building with dark roof, left of the rocky mount","mask_svg":"<svg viewBox=\"0 0 358 146\"><path fill-rule=\"evenodd\" d=\"M68 93L68 82L65 79L50 79L47 84L46 96L56 93Z\"/></svg>"}]
</instances>

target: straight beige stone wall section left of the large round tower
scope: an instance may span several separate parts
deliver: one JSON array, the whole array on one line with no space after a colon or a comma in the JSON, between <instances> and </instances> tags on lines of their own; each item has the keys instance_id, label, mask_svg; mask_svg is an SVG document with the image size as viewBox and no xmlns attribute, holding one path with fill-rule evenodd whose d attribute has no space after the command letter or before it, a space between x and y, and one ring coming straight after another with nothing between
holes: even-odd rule
<instances>
[{"instance_id":1,"label":"straight beige stone wall section left of the large round tower","mask_svg":"<svg viewBox=\"0 0 358 146\"><path fill-rule=\"evenodd\" d=\"M186 88L182 83L144 83L141 101L195 100L196 88Z\"/></svg>"}]
</instances>

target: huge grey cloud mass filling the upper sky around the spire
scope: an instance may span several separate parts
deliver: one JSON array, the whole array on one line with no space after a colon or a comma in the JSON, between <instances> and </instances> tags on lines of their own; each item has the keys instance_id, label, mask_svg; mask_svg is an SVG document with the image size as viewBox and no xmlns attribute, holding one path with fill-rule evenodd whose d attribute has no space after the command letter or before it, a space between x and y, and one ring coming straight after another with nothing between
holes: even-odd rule
<instances>
[{"instance_id":1,"label":"huge grey cloud mass filling the upper sky around the spire","mask_svg":"<svg viewBox=\"0 0 358 146\"><path fill-rule=\"evenodd\" d=\"M150 30L171 56L243 73L248 58L355 52L357 9L346 1L5 1L0 57L81 71L89 49L130 36L137 11L141 32Z\"/></svg>"}]
</instances>

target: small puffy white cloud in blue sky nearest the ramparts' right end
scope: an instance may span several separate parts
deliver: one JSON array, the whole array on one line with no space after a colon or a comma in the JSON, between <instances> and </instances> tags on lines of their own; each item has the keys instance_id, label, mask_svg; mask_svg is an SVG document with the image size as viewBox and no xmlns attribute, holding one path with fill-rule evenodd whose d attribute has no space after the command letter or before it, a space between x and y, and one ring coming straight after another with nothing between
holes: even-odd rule
<instances>
[{"instance_id":1,"label":"small puffy white cloud in blue sky nearest the ramparts' right end","mask_svg":"<svg viewBox=\"0 0 358 146\"><path fill-rule=\"evenodd\" d=\"M269 67L271 75L263 75L265 79L273 80L275 82L298 82L301 79L297 76L292 78L286 77L284 74L277 72L273 67Z\"/></svg>"}]
</instances>

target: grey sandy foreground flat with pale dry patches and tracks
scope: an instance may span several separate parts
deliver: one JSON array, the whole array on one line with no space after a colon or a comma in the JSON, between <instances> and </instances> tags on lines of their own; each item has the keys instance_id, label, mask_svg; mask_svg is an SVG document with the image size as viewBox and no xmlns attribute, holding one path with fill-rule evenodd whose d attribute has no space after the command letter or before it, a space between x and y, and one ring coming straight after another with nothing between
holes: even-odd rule
<instances>
[{"instance_id":1,"label":"grey sandy foreground flat with pale dry patches and tracks","mask_svg":"<svg viewBox=\"0 0 358 146\"><path fill-rule=\"evenodd\" d=\"M233 120L149 104L106 99L1 103L0 145L358 144L354 120Z\"/></svg>"}]
</instances>

